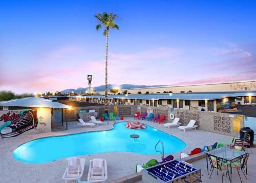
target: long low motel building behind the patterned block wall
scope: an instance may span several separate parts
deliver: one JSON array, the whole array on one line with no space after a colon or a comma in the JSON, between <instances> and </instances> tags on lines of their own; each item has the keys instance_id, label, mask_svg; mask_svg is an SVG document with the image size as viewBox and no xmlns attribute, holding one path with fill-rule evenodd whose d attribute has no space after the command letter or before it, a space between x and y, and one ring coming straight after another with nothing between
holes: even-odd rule
<instances>
[{"instance_id":1,"label":"long low motel building behind the patterned block wall","mask_svg":"<svg viewBox=\"0 0 256 183\"><path fill-rule=\"evenodd\" d=\"M69 96L69 100L103 104L104 96ZM109 95L108 102L109 105L142 105L193 111L223 112L223 108L236 111L236 105L256 104L256 90Z\"/></svg>"}]
</instances>

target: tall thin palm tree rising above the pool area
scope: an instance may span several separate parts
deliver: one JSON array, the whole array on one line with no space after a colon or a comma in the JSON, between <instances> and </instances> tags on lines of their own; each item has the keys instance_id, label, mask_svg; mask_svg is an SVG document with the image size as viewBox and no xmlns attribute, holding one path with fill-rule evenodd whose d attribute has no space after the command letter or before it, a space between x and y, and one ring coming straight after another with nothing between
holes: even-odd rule
<instances>
[{"instance_id":1,"label":"tall thin palm tree rising above the pool area","mask_svg":"<svg viewBox=\"0 0 256 183\"><path fill-rule=\"evenodd\" d=\"M105 29L103 35L106 36L106 57L105 57L105 98L104 98L104 110L108 113L108 51L109 51L109 30L110 29L119 29L118 25L115 23L117 14L98 13L95 15L98 19L99 24L96 26L97 31L103 26Z\"/></svg>"}]
</instances>

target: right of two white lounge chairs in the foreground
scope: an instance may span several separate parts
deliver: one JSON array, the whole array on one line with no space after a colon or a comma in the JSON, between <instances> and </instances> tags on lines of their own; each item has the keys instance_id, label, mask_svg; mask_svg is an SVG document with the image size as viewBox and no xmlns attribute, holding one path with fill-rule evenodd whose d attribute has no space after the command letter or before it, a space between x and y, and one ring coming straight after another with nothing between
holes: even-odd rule
<instances>
[{"instance_id":1,"label":"right of two white lounge chairs in the foreground","mask_svg":"<svg viewBox=\"0 0 256 183\"><path fill-rule=\"evenodd\" d=\"M87 180L89 182L102 182L108 178L108 169L105 159L92 159Z\"/></svg>"}]
</instances>

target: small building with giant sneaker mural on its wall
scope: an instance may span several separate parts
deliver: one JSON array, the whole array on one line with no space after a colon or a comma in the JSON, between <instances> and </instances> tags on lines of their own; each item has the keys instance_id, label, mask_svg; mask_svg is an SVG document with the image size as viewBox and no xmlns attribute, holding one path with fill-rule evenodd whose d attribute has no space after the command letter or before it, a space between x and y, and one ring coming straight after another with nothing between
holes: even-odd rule
<instances>
[{"instance_id":1,"label":"small building with giant sneaker mural on its wall","mask_svg":"<svg viewBox=\"0 0 256 183\"><path fill-rule=\"evenodd\" d=\"M26 132L26 134L51 132L56 124L61 126L62 122L63 125L65 112L71 108L72 107L69 105L37 97L2 101L0 102L1 136L2 138L5 138L11 137L12 135L16 136L23 132ZM25 124L27 121L23 121L23 123L16 125L16 127L22 127L22 125L25 125L23 127L25 130L20 130L18 134L12 133L11 128L9 128L10 125L15 121L15 119L21 118L20 116L22 114L26 114L26 119L30 121L28 124ZM27 129L26 126L28 126ZM7 129L7 131L10 130L9 136L5 136L3 132L5 130L3 130L3 128ZM63 128L65 128L65 126L63 126ZM16 129L16 131L18 130Z\"/></svg>"}]
</instances>

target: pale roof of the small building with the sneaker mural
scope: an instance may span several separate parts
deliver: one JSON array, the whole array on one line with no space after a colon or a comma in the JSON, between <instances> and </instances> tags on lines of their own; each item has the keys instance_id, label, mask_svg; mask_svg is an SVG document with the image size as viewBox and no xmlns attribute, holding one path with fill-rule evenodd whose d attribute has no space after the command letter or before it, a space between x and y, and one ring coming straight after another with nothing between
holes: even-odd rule
<instances>
[{"instance_id":1,"label":"pale roof of the small building with the sneaker mural","mask_svg":"<svg viewBox=\"0 0 256 183\"><path fill-rule=\"evenodd\" d=\"M53 102L48 99L39 97L28 97L22 99L14 99L0 102L0 106L16 106L16 107L43 107L43 108L71 108L72 106Z\"/></svg>"}]
</instances>

